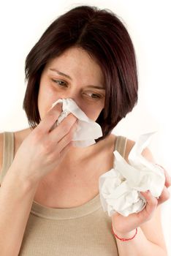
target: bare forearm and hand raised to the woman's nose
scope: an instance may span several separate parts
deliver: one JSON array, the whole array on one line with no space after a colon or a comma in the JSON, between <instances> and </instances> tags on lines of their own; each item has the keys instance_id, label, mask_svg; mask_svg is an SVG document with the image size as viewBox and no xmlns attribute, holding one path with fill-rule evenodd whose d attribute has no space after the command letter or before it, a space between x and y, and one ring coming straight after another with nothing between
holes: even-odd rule
<instances>
[{"instance_id":1,"label":"bare forearm and hand raised to the woman's nose","mask_svg":"<svg viewBox=\"0 0 171 256\"><path fill-rule=\"evenodd\" d=\"M20 252L39 181L58 166L72 146L76 128L74 116L67 116L58 127L50 129L60 113L58 106L55 106L23 140L1 184L1 256L17 256Z\"/></svg>"}]
</instances>

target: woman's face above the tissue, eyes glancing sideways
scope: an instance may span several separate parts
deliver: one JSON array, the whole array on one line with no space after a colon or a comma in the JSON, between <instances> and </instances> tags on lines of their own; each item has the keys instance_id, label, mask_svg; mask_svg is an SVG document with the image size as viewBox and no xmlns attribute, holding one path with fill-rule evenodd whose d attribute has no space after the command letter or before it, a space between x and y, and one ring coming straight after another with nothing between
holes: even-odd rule
<instances>
[{"instance_id":1,"label":"woman's face above the tissue, eyes glancing sideways","mask_svg":"<svg viewBox=\"0 0 171 256\"><path fill-rule=\"evenodd\" d=\"M94 121L104 108L102 70L81 48L69 48L46 64L39 84L38 108L41 119L53 102L60 98L73 99L88 118Z\"/></svg>"}]
</instances>

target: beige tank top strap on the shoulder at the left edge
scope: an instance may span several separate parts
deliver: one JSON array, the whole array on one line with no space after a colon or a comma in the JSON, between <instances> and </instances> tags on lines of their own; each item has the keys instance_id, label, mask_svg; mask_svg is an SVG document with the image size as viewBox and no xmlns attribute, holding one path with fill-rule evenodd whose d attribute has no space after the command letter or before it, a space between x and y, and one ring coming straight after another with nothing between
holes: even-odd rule
<instances>
[{"instance_id":1,"label":"beige tank top strap on the shoulder at the left edge","mask_svg":"<svg viewBox=\"0 0 171 256\"><path fill-rule=\"evenodd\" d=\"M7 170L9 169L14 159L14 132L4 132L4 147L2 170L0 173L0 183L3 181Z\"/></svg>"}]
</instances>

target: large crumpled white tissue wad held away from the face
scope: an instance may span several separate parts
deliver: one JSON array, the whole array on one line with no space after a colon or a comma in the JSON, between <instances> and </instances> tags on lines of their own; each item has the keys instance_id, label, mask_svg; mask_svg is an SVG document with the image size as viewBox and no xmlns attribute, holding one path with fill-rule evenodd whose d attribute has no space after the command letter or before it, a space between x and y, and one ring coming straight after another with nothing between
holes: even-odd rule
<instances>
[{"instance_id":1,"label":"large crumpled white tissue wad held away from the face","mask_svg":"<svg viewBox=\"0 0 171 256\"><path fill-rule=\"evenodd\" d=\"M165 182L164 172L159 165L149 162L141 154L153 133L140 135L129 153L129 164L118 151L114 151L114 168L99 177L102 208L109 216L118 212L127 217L142 211L146 200L140 192L149 189L154 197L161 195Z\"/></svg>"}]
</instances>

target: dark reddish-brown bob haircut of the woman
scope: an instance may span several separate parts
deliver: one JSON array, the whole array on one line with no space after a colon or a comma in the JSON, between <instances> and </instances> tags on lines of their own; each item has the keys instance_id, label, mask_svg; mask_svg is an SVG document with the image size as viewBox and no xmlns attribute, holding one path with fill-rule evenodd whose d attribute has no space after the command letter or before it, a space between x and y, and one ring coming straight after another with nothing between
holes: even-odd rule
<instances>
[{"instance_id":1,"label":"dark reddish-brown bob haircut of the woman","mask_svg":"<svg viewBox=\"0 0 171 256\"><path fill-rule=\"evenodd\" d=\"M28 124L35 128L41 121L37 99L45 65L72 47L86 50L104 74L105 103L96 122L105 138L137 103L137 65L126 27L113 12L97 7L75 7L61 15L28 53L25 67L28 83L23 100Z\"/></svg>"}]
</instances>

